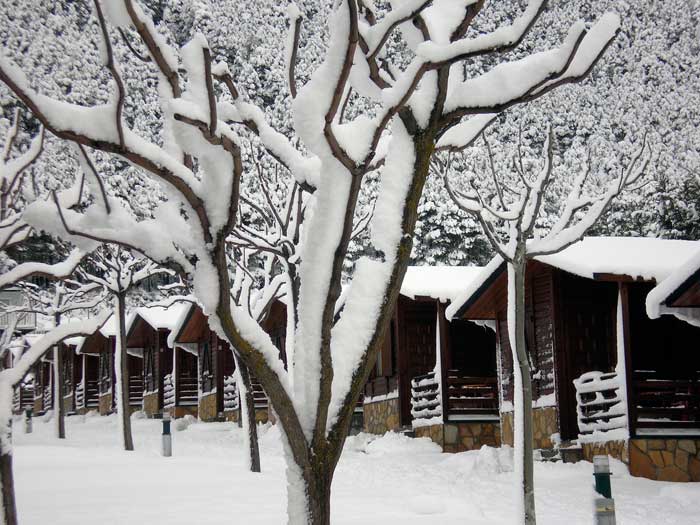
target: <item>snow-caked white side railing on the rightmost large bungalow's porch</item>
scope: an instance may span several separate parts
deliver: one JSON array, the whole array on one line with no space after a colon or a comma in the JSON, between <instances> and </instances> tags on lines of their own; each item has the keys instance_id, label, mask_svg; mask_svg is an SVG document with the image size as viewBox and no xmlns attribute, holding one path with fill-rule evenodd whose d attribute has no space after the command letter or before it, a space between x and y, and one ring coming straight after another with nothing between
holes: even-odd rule
<instances>
[{"instance_id":1,"label":"snow-caked white side railing on the rightmost large bungalow's porch","mask_svg":"<svg viewBox=\"0 0 700 525\"><path fill-rule=\"evenodd\" d=\"M586 372L574 386L579 435L627 428L627 402L615 372Z\"/></svg>"}]
</instances>

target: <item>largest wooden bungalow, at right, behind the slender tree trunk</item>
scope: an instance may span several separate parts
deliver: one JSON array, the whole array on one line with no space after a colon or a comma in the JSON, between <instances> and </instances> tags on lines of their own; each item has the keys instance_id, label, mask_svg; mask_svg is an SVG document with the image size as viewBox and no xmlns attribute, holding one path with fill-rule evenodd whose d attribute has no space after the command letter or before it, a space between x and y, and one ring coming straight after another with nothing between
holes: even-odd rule
<instances>
[{"instance_id":1,"label":"largest wooden bungalow, at right, behind the slender tree trunk","mask_svg":"<svg viewBox=\"0 0 700 525\"><path fill-rule=\"evenodd\" d=\"M634 475L700 480L700 329L650 319L645 299L697 243L586 238L532 260L526 341L533 368L535 446L586 459L607 453ZM513 442L513 359L507 271L494 259L448 314L494 321L501 434Z\"/></svg>"}]
</instances>

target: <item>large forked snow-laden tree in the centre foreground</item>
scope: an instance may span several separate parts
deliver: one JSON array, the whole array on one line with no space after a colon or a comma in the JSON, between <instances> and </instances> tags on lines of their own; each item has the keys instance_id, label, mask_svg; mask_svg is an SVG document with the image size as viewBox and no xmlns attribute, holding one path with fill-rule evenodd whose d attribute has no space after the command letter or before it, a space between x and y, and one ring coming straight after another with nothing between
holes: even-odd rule
<instances>
[{"instance_id":1,"label":"large forked snow-laden tree in the centre foreground","mask_svg":"<svg viewBox=\"0 0 700 525\"><path fill-rule=\"evenodd\" d=\"M294 140L270 126L224 63L214 63L203 35L178 52L133 0L95 3L107 103L44 96L20 68L0 59L0 80L47 131L121 157L161 183L167 200L142 220L121 203L79 210L58 200L33 203L24 219L77 246L96 238L121 244L192 276L210 326L262 383L277 414L291 523L330 521L333 473L399 294L433 152L464 147L499 112L584 78L620 23L614 14L592 25L579 21L559 47L509 61L503 54L525 39L545 2L531 0L510 24L470 32L483 6L410 0L378 10L365 1L337 2L323 58L303 85L292 49L285 54L296 93ZM111 45L115 31L102 9L127 38L140 41L139 51L158 74L158 143L128 118L127 86ZM298 11L292 7L289 14L298 27ZM484 57L497 57L498 65L478 75L464 67ZM366 109L354 113L357 107ZM230 293L227 239L238 223L241 179L252 169L241 152L244 137L259 140L312 194L299 240L299 315L289 370ZM357 262L338 312L359 195L365 177L377 171L369 255Z\"/></svg>"}]
</instances>

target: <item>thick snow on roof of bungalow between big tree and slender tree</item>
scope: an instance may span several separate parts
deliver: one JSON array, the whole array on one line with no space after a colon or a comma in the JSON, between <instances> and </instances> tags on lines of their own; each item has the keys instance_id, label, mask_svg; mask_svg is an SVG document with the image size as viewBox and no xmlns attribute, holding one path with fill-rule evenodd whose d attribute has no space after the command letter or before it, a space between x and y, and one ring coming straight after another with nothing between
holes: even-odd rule
<instances>
[{"instance_id":1,"label":"thick snow on roof of bungalow between big tree and slender tree","mask_svg":"<svg viewBox=\"0 0 700 525\"><path fill-rule=\"evenodd\" d=\"M401 295L454 301L482 272L481 266L409 266L401 284Z\"/></svg>"}]
</instances>

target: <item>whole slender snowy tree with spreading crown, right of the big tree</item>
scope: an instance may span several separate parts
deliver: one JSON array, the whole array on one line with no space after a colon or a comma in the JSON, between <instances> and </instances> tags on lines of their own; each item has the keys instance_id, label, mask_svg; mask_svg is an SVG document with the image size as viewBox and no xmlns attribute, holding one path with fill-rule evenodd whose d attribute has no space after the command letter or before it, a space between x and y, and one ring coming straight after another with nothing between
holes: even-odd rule
<instances>
[{"instance_id":1,"label":"whole slender snowy tree with spreading crown, right of the big tree","mask_svg":"<svg viewBox=\"0 0 700 525\"><path fill-rule=\"evenodd\" d=\"M645 141L620 176L598 177L597 184L591 188L590 162L573 180L570 174L564 173L568 175L567 181L557 181L551 129L545 139L544 159L539 170L528 169L532 163L523 159L520 149L509 163L510 170L497 166L490 147L486 149L490 173L474 175L471 172L470 180L462 181L466 189L452 187L444 166L442 173L452 200L479 222L498 254L494 263L505 262L508 267L508 340L513 362L518 365L513 369L517 497L522 509L520 518L524 523L534 524L532 370L525 342L527 263L535 257L557 253L582 239L613 199L639 181L649 164L650 155L647 155ZM562 170L558 172L562 177ZM558 187L555 182L560 183ZM558 211L557 220L551 224L543 224L540 216L547 204L554 204Z\"/></svg>"}]
</instances>

